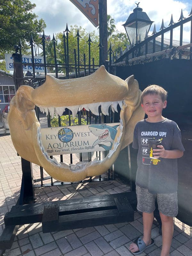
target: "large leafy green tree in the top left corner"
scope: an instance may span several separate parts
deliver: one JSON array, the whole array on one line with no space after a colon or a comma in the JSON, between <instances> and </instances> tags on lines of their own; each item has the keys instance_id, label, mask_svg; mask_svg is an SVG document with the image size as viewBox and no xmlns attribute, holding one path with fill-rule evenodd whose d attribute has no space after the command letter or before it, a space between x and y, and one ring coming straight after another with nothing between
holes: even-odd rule
<instances>
[{"instance_id":1,"label":"large leafy green tree in the top left corner","mask_svg":"<svg viewBox=\"0 0 192 256\"><path fill-rule=\"evenodd\" d=\"M35 6L29 0L0 0L1 60L5 52L13 52L13 46L19 43L19 39L25 44L32 34L36 40L37 33L46 27L44 20L37 20L37 15L32 12Z\"/></svg>"}]
</instances>

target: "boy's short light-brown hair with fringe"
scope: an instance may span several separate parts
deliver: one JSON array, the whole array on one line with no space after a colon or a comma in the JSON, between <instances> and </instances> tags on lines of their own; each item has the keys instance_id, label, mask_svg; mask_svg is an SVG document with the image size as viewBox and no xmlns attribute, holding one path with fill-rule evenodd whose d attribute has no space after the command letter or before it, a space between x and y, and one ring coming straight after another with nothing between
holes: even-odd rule
<instances>
[{"instance_id":1,"label":"boy's short light-brown hair with fringe","mask_svg":"<svg viewBox=\"0 0 192 256\"><path fill-rule=\"evenodd\" d=\"M148 85L143 92L141 93L141 103L143 104L143 97L148 95L148 94L157 94L161 97L161 100L164 102L167 100L167 91L159 85L153 84L153 85Z\"/></svg>"}]
</instances>

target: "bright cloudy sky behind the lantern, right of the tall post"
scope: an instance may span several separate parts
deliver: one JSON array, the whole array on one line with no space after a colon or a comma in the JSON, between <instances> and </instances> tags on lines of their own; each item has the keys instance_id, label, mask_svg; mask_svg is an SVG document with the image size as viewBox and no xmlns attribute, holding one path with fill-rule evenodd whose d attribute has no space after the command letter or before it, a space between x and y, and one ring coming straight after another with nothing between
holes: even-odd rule
<instances>
[{"instance_id":1,"label":"bright cloudy sky behind the lantern, right of the tall post","mask_svg":"<svg viewBox=\"0 0 192 256\"><path fill-rule=\"evenodd\" d=\"M168 27L171 14L173 15L173 21L178 22L181 14L181 9L183 10L183 15L185 18L188 17L191 11L191 3L189 1L175 1L175 0L141 0L139 6L146 12L150 20L154 21L151 26L150 33L152 33L154 24L156 24L156 31L158 32L162 19L164 20L164 26ZM116 28L119 31L125 31L122 24L125 23L129 15L132 13L136 4L132 0L111 0L108 1L108 14L110 14L116 21ZM185 26L183 33L183 41L190 41L190 25ZM180 32L175 31L174 39L179 40Z\"/></svg>"}]
</instances>

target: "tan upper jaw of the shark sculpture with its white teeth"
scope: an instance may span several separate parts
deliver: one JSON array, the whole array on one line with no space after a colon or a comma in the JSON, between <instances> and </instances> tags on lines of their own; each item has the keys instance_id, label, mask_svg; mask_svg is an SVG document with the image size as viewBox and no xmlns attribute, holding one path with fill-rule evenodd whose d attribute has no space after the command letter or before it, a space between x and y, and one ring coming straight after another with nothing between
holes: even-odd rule
<instances>
[{"instance_id":1,"label":"tan upper jaw of the shark sculpture with its white teeth","mask_svg":"<svg viewBox=\"0 0 192 256\"><path fill-rule=\"evenodd\" d=\"M117 111L117 104L123 108L127 95L127 83L101 66L92 75L79 79L59 80L46 76L46 82L32 92L32 100L42 112L50 112L51 116L54 113L61 116L65 108L70 109L73 116L83 108L99 115L99 106L102 113L108 115L110 106L113 111Z\"/></svg>"}]
</instances>

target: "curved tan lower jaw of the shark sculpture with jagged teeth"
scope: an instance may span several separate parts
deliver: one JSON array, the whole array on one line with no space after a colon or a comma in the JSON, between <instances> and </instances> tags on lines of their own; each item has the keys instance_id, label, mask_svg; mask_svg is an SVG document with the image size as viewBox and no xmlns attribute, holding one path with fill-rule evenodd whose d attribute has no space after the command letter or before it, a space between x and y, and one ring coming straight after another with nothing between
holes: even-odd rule
<instances>
[{"instance_id":1,"label":"curved tan lower jaw of the shark sculpture with jagged teeth","mask_svg":"<svg viewBox=\"0 0 192 256\"><path fill-rule=\"evenodd\" d=\"M97 105L98 105L98 103L97 103ZM109 103L107 103L105 105L109 105ZM117 104L116 104L116 106L117 106ZM87 106L85 106L85 107L88 108ZM123 102L120 105L120 107L123 109ZM71 109L73 109L73 107ZM115 108L115 110L117 111L116 108ZM97 113L95 110L94 110L94 112ZM106 112L107 111L105 110L105 113ZM124 111L121 111L120 125L118 128L112 149L109 150L108 155L103 160L99 160L97 157L89 163L80 162L77 164L69 164L69 166L65 163L58 163L54 157L51 159L48 156L48 154L45 151L43 144L41 142L40 124L37 124L37 123L34 124L33 125L33 141L34 141L34 148L36 151L36 156L39 160L39 163L44 168L44 170L50 176L52 176L52 178L59 180L59 181L76 182L76 181L84 180L85 178L87 178L89 176L98 176L98 175L103 174L115 162L117 156L119 155L120 149L121 149L122 141L124 138L124 129L125 129L125 127L123 125L123 123L124 123L124 113L123 112Z\"/></svg>"}]
</instances>

